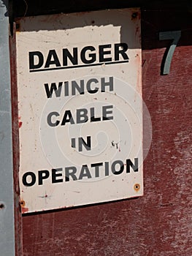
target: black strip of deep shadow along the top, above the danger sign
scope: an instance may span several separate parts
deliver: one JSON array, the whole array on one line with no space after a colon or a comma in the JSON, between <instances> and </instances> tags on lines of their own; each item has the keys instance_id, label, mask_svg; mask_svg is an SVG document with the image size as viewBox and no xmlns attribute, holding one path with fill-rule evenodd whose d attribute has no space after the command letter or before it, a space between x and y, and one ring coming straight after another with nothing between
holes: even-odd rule
<instances>
[{"instance_id":1,"label":"black strip of deep shadow along the top, above the danger sign","mask_svg":"<svg viewBox=\"0 0 192 256\"><path fill-rule=\"evenodd\" d=\"M164 2L164 3L162 3ZM143 10L161 10L163 7L169 7L174 10L175 8L188 12L192 9L191 0L14 0L15 17L23 17L31 15L47 15L53 13L67 13L67 12L88 12L93 10L107 10L118 8L131 8L140 7ZM185 11L184 11L185 9Z\"/></svg>"}]
</instances>

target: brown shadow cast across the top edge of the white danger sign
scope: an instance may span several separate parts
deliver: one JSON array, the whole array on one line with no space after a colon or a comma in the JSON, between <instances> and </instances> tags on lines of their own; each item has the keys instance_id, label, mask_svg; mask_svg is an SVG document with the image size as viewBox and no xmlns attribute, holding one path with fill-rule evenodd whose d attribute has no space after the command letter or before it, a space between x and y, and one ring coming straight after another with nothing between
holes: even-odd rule
<instances>
[{"instance_id":1,"label":"brown shadow cast across the top edge of the white danger sign","mask_svg":"<svg viewBox=\"0 0 192 256\"><path fill-rule=\"evenodd\" d=\"M119 18L120 17L120 18ZM120 42L128 42L128 48L140 48L139 40L134 40L136 32L139 33L140 13L138 9L133 9L127 12L123 10L101 10L94 12L77 12L69 14L55 15L39 15L16 20L18 31L56 31L56 30L71 30L86 26L91 26L92 30L96 27L113 26L119 29ZM134 26L129 26L130 23L135 23ZM112 34L109 34L109 42Z\"/></svg>"}]
</instances>

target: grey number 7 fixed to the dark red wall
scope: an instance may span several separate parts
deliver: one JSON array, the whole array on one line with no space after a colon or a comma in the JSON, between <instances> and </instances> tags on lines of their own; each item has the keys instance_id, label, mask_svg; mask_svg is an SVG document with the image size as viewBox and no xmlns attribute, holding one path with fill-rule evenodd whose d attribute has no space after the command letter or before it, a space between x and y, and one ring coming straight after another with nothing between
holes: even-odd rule
<instances>
[{"instance_id":1,"label":"grey number 7 fixed to the dark red wall","mask_svg":"<svg viewBox=\"0 0 192 256\"><path fill-rule=\"evenodd\" d=\"M162 75L169 74L170 66L172 62L172 56L174 53L174 50L177 46L177 42L179 42L181 36L181 31L165 31L165 32L159 32L159 40L168 40L173 39L172 45L170 45L169 50L167 49L164 53L164 58L161 63L161 73Z\"/></svg>"}]
</instances>

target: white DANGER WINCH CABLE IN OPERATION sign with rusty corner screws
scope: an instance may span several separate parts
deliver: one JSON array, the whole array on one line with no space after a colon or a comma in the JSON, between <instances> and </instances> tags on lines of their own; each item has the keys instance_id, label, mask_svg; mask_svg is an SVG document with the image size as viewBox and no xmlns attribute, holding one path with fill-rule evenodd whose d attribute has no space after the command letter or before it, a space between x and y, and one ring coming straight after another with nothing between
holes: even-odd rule
<instances>
[{"instance_id":1,"label":"white DANGER WINCH CABLE IN OPERATION sign with rusty corner screws","mask_svg":"<svg viewBox=\"0 0 192 256\"><path fill-rule=\"evenodd\" d=\"M23 213L137 197L139 9L18 20Z\"/></svg>"}]
</instances>

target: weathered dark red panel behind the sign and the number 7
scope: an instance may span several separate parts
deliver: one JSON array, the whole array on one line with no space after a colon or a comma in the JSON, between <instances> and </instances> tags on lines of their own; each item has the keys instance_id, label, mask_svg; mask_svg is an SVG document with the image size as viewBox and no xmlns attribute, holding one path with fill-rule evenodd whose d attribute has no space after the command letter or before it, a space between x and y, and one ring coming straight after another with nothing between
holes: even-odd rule
<instances>
[{"instance_id":1,"label":"weathered dark red panel behind the sign and the number 7","mask_svg":"<svg viewBox=\"0 0 192 256\"><path fill-rule=\"evenodd\" d=\"M167 11L143 11L143 98L153 124L144 165L145 196L28 214L23 217L23 255L192 255L191 27L188 19L181 20L184 14L177 16L181 28L174 18L166 26L165 15ZM175 13L170 10L169 15ZM170 74L162 76L165 48L161 47L169 45L169 40L158 42L158 32L169 29L182 29L182 39Z\"/></svg>"}]
</instances>

